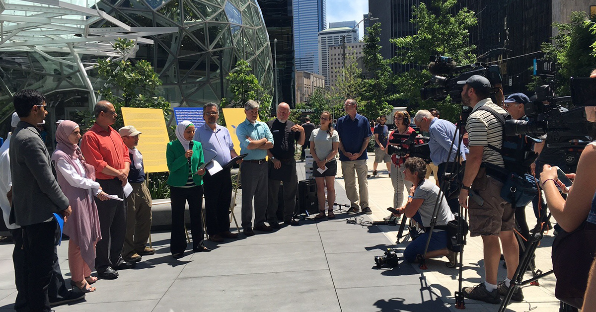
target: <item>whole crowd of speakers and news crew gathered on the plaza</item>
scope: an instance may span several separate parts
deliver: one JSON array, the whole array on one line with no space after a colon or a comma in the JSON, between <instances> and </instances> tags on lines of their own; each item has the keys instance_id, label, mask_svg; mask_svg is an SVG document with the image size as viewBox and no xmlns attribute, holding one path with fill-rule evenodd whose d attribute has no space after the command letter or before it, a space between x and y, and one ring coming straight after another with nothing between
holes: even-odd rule
<instances>
[{"instance_id":1,"label":"whole crowd of speakers and news crew gathered on the plaza","mask_svg":"<svg viewBox=\"0 0 596 312\"><path fill-rule=\"evenodd\" d=\"M408 147L406 138L414 129L407 112L393 113L395 129L391 132L384 124L384 116L371 129L368 119L357 113L356 100L347 99L346 115L333 125L333 116L324 111L317 128L309 119L303 125L288 120L290 106L287 103L277 105L275 119L257 121L259 103L247 101L244 104L246 119L237 125L235 133L240 141L239 157L228 129L218 124L218 104L205 104L204 125L195 127L190 121L178 123L176 140L166 147L172 206L172 257L184 257L187 249L184 220L187 204L193 252L210 251L203 245L203 222L212 242L238 238L237 233L230 231L231 171L224 168L210 174L204 166L210 160L225 164L238 159L242 186L241 227L246 237L253 236L255 231L271 232L281 228L281 220L285 225L299 224L294 218L298 189L297 145L302 146L303 152L309 148L315 164L313 177L319 208L315 220L335 217L338 153L350 201L347 214L372 214L368 201L367 147L374 137L373 174L377 174L379 162L386 162L395 190L395 210L386 220L395 221L405 215L426 230L406 247L405 260L420 260L431 236L426 258L446 257L448 267L456 267L457 257L448 249L445 226L455 219L461 205L470 215L471 236L482 237L485 249L485 282L464 288L464 296L498 303L500 296L511 287L520 247L513 234L516 209L500 196L502 182L491 171L494 170L491 168L504 168L502 156L491 149L502 146L504 131L491 110L505 114L507 109L512 116L522 118L518 110L520 106L523 109L527 97L511 95L502 107L492 103L488 79L472 76L460 83L463 85L462 103L473 108L465 126L467 144L454 142L462 129L440 119L437 110L419 110L413 118L419 129L429 133L430 165L418 157L389 153L390 146ZM143 256L156 252L147 246L151 196L143 156L136 149L141 132L133 125L116 131L112 128L117 118L113 104L99 101L94 107L95 124L83 135L80 126L73 121L58 123L57 146L50 155L37 127L47 115L44 95L29 89L17 92L14 108L13 131L0 148L3 174L0 207L15 243L13 260L18 291L15 310L50 311L51 306L77 301L86 293L94 292L96 288L92 285L98 278L116 279L120 270L135 267ZM586 107L586 114L589 121L596 121L593 107ZM396 142L393 138L399 140ZM578 186L566 190L569 193L566 200L556 187L561 186L557 167L545 164L541 168L544 169L539 174L541 187L552 215L564 231L575 230L588 215L588 221L596 223L596 205L592 200L596 183L588 178L589 174L594 174L590 165L593 157L592 143L582 153L579 173L569 175ZM446 179L448 168L462 162L465 162L465 172L461 186L452 185L453 189L446 191L448 194L459 191L459 199L439 200L436 205L442 193L439 183ZM436 183L429 180L430 172L434 172ZM404 191L407 198L403 196ZM482 198L483 203L468 202L470 193ZM283 205L278 202L280 197ZM282 211L278 211L280 206ZM437 227L430 233L433 219ZM55 245L61 237L57 233L62 231L70 239L68 263L74 291L67 290L58 265ZM497 281L499 240L507 263L507 278L501 282ZM97 277L92 276L93 270L97 271ZM522 289L516 286L513 300L522 299Z\"/></svg>"}]
</instances>

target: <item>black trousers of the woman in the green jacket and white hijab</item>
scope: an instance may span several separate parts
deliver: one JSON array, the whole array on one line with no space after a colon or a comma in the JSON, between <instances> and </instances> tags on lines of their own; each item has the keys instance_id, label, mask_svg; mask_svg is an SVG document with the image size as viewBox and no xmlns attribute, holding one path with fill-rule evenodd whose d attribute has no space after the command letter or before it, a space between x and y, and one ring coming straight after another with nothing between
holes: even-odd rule
<instances>
[{"instance_id":1,"label":"black trousers of the woman in the green jacket and white hijab","mask_svg":"<svg viewBox=\"0 0 596 312\"><path fill-rule=\"evenodd\" d=\"M190 212L190 232L193 236L193 249L203 243L203 186L170 187L172 201L172 234L170 235L170 252L181 254L186 250L186 234L184 233L184 208L188 201Z\"/></svg>"}]
</instances>

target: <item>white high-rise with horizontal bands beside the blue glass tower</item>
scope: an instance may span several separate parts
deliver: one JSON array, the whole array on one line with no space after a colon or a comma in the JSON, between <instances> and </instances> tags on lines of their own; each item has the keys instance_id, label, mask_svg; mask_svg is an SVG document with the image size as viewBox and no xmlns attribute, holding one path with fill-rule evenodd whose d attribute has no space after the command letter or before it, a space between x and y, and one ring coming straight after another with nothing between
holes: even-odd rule
<instances>
[{"instance_id":1,"label":"white high-rise with horizontal bands beside the blue glass tower","mask_svg":"<svg viewBox=\"0 0 596 312\"><path fill-rule=\"evenodd\" d=\"M336 24L339 24L341 26L344 23L355 25L356 21L329 23L329 29L319 32L319 53L321 57L319 60L319 69L321 71L321 75L325 77L325 81L329 81L330 79L330 62L341 61L337 59L331 60L329 58L329 47L333 47L336 45L341 46L343 36L346 36L347 44L352 42L358 42L358 28L353 29L353 26L337 28L332 27Z\"/></svg>"}]
</instances>

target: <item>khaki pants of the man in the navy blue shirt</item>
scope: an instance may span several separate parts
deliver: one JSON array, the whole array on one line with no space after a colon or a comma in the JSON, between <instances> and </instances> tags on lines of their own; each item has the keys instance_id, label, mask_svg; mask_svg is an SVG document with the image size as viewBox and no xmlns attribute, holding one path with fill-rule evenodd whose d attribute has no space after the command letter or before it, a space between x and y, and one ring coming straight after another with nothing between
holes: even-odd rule
<instances>
[{"instance_id":1,"label":"khaki pants of the man in the navy blue shirt","mask_svg":"<svg viewBox=\"0 0 596 312\"><path fill-rule=\"evenodd\" d=\"M350 200L350 205L356 208L368 208L367 160L342 162L342 173L346 184L346 196ZM356 191L356 175L358 175L358 191ZM358 200L358 194L360 194L360 200Z\"/></svg>"}]
</instances>

